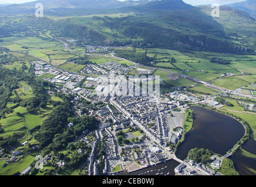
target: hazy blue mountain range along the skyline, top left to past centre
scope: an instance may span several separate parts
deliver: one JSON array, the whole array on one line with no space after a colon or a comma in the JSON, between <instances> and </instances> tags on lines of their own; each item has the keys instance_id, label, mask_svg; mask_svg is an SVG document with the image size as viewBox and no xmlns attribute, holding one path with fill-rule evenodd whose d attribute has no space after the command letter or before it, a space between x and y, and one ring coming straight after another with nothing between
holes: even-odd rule
<instances>
[{"instance_id":1,"label":"hazy blue mountain range along the skyline, top left to past centre","mask_svg":"<svg viewBox=\"0 0 256 187\"><path fill-rule=\"evenodd\" d=\"M181 0L41 0L19 5L9 5L5 8L0 7L0 14L33 14L35 13L35 5L37 3L43 4L44 13L48 16L79 16L125 12L148 13L152 11L173 11L193 8L193 6Z\"/></svg>"}]
</instances>

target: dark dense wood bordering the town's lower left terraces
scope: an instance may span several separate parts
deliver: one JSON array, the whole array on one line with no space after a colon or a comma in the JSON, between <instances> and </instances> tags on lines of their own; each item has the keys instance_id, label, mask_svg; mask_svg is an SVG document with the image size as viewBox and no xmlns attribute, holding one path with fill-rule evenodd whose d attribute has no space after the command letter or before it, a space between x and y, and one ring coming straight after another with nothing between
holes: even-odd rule
<instances>
[{"instance_id":1,"label":"dark dense wood bordering the town's lower left terraces","mask_svg":"<svg viewBox=\"0 0 256 187\"><path fill-rule=\"evenodd\" d=\"M42 154L48 154L50 151L59 151L62 148L70 149L70 143L80 136L84 130L95 130L99 127L99 121L94 116L69 117L72 111L64 109L66 106L60 105L54 112L57 117L50 116L48 121L44 122L42 128L36 133L35 138L41 143ZM60 110L63 110L62 112ZM61 117L62 120L56 121ZM73 123L72 127L67 128L68 123ZM49 128L47 130L47 128ZM44 136L48 137L44 137ZM72 149L72 148L71 148Z\"/></svg>"}]
</instances>

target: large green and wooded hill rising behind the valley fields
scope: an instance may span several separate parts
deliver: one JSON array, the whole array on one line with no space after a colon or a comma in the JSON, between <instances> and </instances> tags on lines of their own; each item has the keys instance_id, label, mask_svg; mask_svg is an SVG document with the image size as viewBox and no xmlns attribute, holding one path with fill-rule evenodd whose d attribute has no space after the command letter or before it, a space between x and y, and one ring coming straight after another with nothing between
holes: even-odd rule
<instances>
[{"instance_id":1,"label":"large green and wooded hill rising behind the valley fields","mask_svg":"<svg viewBox=\"0 0 256 187\"><path fill-rule=\"evenodd\" d=\"M49 30L53 37L70 37L87 44L130 45L185 52L203 50L218 53L254 53L254 19L245 12L227 6L221 6L220 18L213 18L211 11L211 6L200 6L186 10L160 11L166 12L165 15L150 12L90 18L45 16L42 19L31 15L22 18L16 27L21 30L23 26L23 32L28 28L45 29ZM5 37L11 34L8 30L5 30L5 33Z\"/></svg>"}]
</instances>

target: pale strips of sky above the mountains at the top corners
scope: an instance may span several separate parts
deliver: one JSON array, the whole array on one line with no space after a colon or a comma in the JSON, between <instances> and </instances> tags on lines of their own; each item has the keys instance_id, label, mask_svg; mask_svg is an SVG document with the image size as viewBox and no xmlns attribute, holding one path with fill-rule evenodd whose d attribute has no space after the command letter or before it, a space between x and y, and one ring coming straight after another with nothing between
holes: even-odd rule
<instances>
[{"instance_id":1,"label":"pale strips of sky above the mountains at the top corners","mask_svg":"<svg viewBox=\"0 0 256 187\"><path fill-rule=\"evenodd\" d=\"M0 4L23 4L25 2L32 2L35 0L0 0ZM119 1L123 1L123 0L119 0ZM242 2L245 0L183 0L184 2L186 2L186 4L190 4L193 6L196 5L205 5L205 4L213 4L213 3L217 3L219 5L225 5L225 4L231 4L234 2Z\"/></svg>"}]
</instances>

